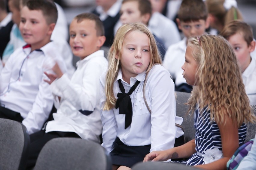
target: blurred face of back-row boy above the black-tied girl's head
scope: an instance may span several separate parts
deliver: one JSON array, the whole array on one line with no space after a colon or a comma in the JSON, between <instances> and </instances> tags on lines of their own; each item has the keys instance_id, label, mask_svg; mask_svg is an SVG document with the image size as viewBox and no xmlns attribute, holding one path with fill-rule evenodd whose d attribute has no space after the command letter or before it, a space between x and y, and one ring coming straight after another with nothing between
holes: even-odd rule
<instances>
[{"instance_id":1,"label":"blurred face of back-row boy above the black-tied girl's head","mask_svg":"<svg viewBox=\"0 0 256 170\"><path fill-rule=\"evenodd\" d=\"M139 10L139 3L137 1L128 1L122 4L120 9L120 21L122 24L142 22L147 24L150 15L141 15Z\"/></svg>"}]
</instances>

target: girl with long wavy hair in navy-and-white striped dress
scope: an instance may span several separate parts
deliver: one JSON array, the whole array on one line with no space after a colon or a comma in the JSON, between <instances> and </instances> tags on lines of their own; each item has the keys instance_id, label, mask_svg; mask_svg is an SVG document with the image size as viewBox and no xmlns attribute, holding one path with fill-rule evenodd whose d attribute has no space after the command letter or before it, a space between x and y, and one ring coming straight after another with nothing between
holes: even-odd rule
<instances>
[{"instance_id":1,"label":"girl with long wavy hair in navy-and-white striped dress","mask_svg":"<svg viewBox=\"0 0 256 170\"><path fill-rule=\"evenodd\" d=\"M194 113L195 139L151 152L144 161L189 157L181 162L202 169L226 169L227 161L245 141L245 123L255 120L236 55L221 36L192 37L182 69L187 84L194 86L187 104Z\"/></svg>"}]
</instances>

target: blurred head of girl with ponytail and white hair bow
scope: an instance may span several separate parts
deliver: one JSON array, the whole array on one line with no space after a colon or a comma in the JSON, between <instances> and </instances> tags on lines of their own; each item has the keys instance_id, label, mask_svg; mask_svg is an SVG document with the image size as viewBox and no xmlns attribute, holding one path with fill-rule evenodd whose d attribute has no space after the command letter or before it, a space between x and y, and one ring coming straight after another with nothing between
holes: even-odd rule
<instances>
[{"instance_id":1,"label":"blurred head of girl with ponytail and white hair bow","mask_svg":"<svg viewBox=\"0 0 256 170\"><path fill-rule=\"evenodd\" d=\"M211 28L221 32L225 25L233 20L243 20L237 8L236 0L206 0Z\"/></svg>"}]
</instances>

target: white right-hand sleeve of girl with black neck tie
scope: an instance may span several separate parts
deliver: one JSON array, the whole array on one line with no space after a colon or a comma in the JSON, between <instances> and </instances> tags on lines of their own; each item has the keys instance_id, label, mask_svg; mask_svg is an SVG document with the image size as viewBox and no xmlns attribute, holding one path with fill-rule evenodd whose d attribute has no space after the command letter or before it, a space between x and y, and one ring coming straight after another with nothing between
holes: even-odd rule
<instances>
[{"instance_id":1,"label":"white right-hand sleeve of girl with black neck tie","mask_svg":"<svg viewBox=\"0 0 256 170\"><path fill-rule=\"evenodd\" d=\"M172 148L176 134L174 83L166 69L156 70L156 72L154 70L147 82L151 98L150 152Z\"/></svg>"}]
</instances>

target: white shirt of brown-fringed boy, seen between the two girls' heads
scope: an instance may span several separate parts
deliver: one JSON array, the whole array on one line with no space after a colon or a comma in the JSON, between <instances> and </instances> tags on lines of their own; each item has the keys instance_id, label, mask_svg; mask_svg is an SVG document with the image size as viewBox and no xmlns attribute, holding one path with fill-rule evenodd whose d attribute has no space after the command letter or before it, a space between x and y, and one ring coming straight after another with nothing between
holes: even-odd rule
<instances>
[{"instance_id":1,"label":"white shirt of brown-fringed boy, seen between the two girls' heads","mask_svg":"<svg viewBox=\"0 0 256 170\"><path fill-rule=\"evenodd\" d=\"M180 42L169 46L164 55L163 66L165 66L174 79L177 77L178 72L182 70L181 66L185 62L186 41L187 38L184 37Z\"/></svg>"}]
</instances>

